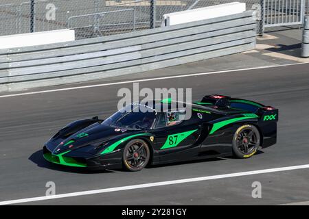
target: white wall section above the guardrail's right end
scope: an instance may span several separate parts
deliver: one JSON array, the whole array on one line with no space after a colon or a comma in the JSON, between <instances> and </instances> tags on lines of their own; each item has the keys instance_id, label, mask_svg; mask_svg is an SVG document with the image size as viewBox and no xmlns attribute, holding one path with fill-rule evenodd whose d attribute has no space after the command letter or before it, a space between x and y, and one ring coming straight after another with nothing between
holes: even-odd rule
<instances>
[{"instance_id":1,"label":"white wall section above the guardrail's right end","mask_svg":"<svg viewBox=\"0 0 309 219\"><path fill-rule=\"evenodd\" d=\"M201 21L219 16L242 13L246 10L246 3L232 2L221 5L214 5L205 8L175 12L163 15L162 27L179 25L192 21Z\"/></svg>"}]
</instances>

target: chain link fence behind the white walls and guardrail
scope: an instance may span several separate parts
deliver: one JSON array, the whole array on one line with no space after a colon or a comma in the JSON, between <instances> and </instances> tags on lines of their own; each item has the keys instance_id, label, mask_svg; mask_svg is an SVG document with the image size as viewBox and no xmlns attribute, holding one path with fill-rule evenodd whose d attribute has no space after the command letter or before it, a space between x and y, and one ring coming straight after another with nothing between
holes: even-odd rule
<instances>
[{"instance_id":1,"label":"chain link fence behind the white walls and guardrail","mask_svg":"<svg viewBox=\"0 0 309 219\"><path fill-rule=\"evenodd\" d=\"M299 1L301 0L297 3ZM309 0L304 1L308 12ZM160 27L163 14L230 2L233 1L1 0L0 36L65 28L75 29L76 39L122 34ZM240 2L247 3L247 10L257 9L256 4L263 3L261 0L240 0ZM262 26L260 25L258 29Z\"/></svg>"}]
</instances>

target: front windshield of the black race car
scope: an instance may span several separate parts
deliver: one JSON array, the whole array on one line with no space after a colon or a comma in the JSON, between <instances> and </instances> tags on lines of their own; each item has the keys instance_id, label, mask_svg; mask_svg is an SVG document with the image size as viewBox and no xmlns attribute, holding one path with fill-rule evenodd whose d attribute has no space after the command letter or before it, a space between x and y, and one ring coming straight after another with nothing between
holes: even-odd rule
<instances>
[{"instance_id":1,"label":"front windshield of the black race car","mask_svg":"<svg viewBox=\"0 0 309 219\"><path fill-rule=\"evenodd\" d=\"M128 105L104 120L102 125L109 125L119 129L150 129L155 122L156 113L153 111L140 112L138 107L139 104Z\"/></svg>"}]
</instances>

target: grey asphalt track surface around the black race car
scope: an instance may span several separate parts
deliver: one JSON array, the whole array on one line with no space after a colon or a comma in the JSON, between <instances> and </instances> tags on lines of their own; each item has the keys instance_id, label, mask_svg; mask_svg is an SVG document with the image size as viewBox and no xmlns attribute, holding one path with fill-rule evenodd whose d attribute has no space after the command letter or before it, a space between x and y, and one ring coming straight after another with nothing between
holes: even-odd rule
<instances>
[{"instance_id":1,"label":"grey asphalt track surface around the black race car","mask_svg":"<svg viewBox=\"0 0 309 219\"><path fill-rule=\"evenodd\" d=\"M119 88L132 83L0 98L0 201L309 164L309 64L140 82L140 88L192 88L193 100L227 94L280 110L278 142L251 159L218 158L153 166L141 172L84 172L45 162L41 148L80 118L117 110ZM44 88L47 89L47 88ZM27 205L277 205L309 200L309 169L57 198ZM254 181L262 198L252 198Z\"/></svg>"}]
</instances>

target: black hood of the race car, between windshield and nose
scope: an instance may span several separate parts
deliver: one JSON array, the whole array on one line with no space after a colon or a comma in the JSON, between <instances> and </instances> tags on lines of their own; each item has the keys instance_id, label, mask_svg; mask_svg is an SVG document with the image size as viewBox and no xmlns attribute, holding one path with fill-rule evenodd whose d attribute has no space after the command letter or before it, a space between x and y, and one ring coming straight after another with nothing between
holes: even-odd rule
<instances>
[{"instance_id":1,"label":"black hood of the race car, between windshield and nose","mask_svg":"<svg viewBox=\"0 0 309 219\"><path fill-rule=\"evenodd\" d=\"M84 150L85 153L94 153L94 149L113 138L122 136L124 133L130 133L133 131L127 129L117 129L109 125L102 125L95 123L89 127L74 133L69 138L62 141L55 141L56 148L53 153L55 155L63 154L67 151L75 151L83 147L87 148ZM136 131L135 131L136 132Z\"/></svg>"}]
</instances>

